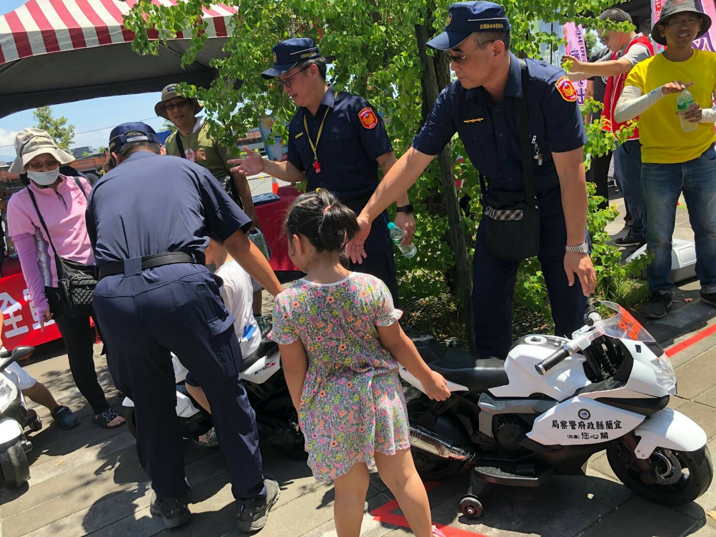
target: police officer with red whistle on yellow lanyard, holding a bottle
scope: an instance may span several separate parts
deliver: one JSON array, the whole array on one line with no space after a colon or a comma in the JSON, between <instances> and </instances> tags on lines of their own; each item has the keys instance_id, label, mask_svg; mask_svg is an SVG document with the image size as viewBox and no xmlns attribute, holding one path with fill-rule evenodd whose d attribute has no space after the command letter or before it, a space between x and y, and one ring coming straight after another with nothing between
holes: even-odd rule
<instances>
[{"instance_id":1,"label":"police officer with red whistle on yellow lanyard, holding a bottle","mask_svg":"<svg viewBox=\"0 0 716 537\"><path fill-rule=\"evenodd\" d=\"M312 39L286 39L272 50L274 67L262 76L278 77L284 92L299 106L289 126L288 160L265 160L245 147L248 157L229 160L238 164L231 171L245 175L264 171L291 183L307 180L307 190L327 188L359 213L378 185L378 167L386 174L396 161L383 120L363 97L326 84L326 59ZM404 230L403 243L409 244L415 232L412 205L405 190L396 199L395 225ZM387 223L382 212L365 243L368 257L350 268L382 279L397 302Z\"/></svg>"}]
</instances>

